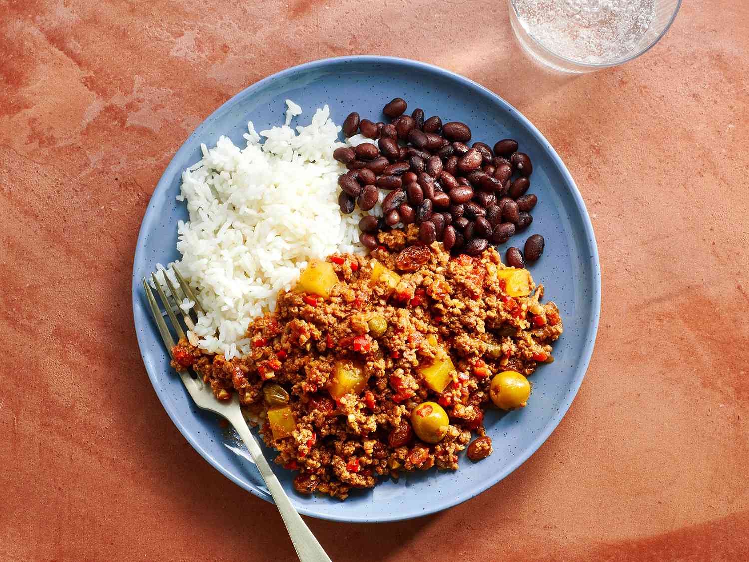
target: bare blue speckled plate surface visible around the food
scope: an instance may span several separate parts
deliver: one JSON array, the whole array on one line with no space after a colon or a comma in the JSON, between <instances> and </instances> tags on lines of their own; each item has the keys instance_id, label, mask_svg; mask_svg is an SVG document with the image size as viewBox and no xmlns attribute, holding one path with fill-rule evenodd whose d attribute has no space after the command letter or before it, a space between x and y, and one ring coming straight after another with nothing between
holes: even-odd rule
<instances>
[{"instance_id":1,"label":"bare blue speckled plate surface visible around the food","mask_svg":"<svg viewBox=\"0 0 749 562\"><path fill-rule=\"evenodd\" d=\"M193 405L169 360L154 323L149 318L141 280L157 262L178 258L177 221L187 219L184 204L175 200L181 172L201 157L200 144L215 145L219 135L239 145L247 121L256 130L280 124L284 100L302 106L300 117L309 123L315 108L330 106L341 124L349 112L380 121L382 108L393 97L403 97L409 112L416 107L444 122L470 124L473 141L494 145L513 138L533 160L530 193L539 196L533 225L527 235L546 240L542 259L530 271L543 282L545 297L560 307L565 330L554 346L554 363L541 366L531 377L533 393L527 408L501 414L489 409L486 430L494 453L473 463L461 457L455 472L407 474L385 480L374 489L354 490L346 501L294 492L293 474L276 465L275 471L300 513L342 522L385 522L409 519L444 510L483 492L506 477L538 449L554 430L583 380L601 304L598 251L583 199L571 175L548 141L516 109L486 88L455 73L428 64L386 57L331 58L283 70L240 92L210 115L189 136L157 185L143 219L133 267L133 315L143 362L161 402L187 441L225 476L267 501L272 501L255 465L243 456L240 444L219 426L213 414ZM292 126L296 124L292 122ZM521 246L526 235L512 238ZM506 246L500 247L504 252ZM145 382L145 381L144 381ZM273 458L273 452L266 450Z\"/></svg>"}]
</instances>

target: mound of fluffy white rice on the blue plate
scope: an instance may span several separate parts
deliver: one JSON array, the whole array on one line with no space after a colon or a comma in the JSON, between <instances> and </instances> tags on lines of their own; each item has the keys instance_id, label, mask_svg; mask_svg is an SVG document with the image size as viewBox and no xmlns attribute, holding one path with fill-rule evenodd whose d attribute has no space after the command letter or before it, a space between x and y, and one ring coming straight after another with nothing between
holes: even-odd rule
<instances>
[{"instance_id":1,"label":"mound of fluffy white rice on the blue plate","mask_svg":"<svg viewBox=\"0 0 749 562\"><path fill-rule=\"evenodd\" d=\"M187 201L189 221L178 223L177 265L206 311L188 338L226 357L249 351L249 322L273 309L309 260L363 250L360 211L342 215L337 202L341 127L324 106L295 133L288 125L302 109L286 105L282 127L258 135L248 123L246 148L224 136L210 150L201 145L203 159L182 174L177 199Z\"/></svg>"}]
</instances>

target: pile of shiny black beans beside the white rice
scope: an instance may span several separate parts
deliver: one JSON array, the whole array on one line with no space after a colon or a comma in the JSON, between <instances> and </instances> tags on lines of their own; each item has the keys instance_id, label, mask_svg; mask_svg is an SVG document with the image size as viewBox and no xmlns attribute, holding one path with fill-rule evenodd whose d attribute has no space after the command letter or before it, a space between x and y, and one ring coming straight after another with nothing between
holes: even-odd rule
<instances>
[{"instance_id":1,"label":"pile of shiny black beans beside the white rice","mask_svg":"<svg viewBox=\"0 0 749 562\"><path fill-rule=\"evenodd\" d=\"M333 152L349 170L338 178L342 213L351 213L357 205L370 211L379 190L389 191L383 217L369 214L360 220L365 247L377 247L380 230L416 224L424 244L441 241L453 253L477 256L489 244L503 244L530 226L530 211L538 202L527 193L533 163L518 151L518 142L503 139L493 150L484 142L468 145L467 124L443 124L437 116L427 119L423 109L406 115L406 109L400 97L388 103L383 113L392 120L389 124L360 120L358 113L351 113L342 125L345 136L361 133L377 139L377 145L364 142ZM543 247L543 238L533 235L525 246L526 259L538 259ZM510 250L515 250L515 263L509 265L524 267L521 251ZM508 252L508 262L510 257Z\"/></svg>"}]
</instances>

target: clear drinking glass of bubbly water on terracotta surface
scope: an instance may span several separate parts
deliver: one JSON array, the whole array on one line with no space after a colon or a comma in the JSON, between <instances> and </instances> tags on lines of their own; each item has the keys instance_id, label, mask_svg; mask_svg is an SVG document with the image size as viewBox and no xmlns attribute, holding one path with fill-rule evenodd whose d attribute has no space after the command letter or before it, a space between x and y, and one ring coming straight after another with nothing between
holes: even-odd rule
<instances>
[{"instance_id":1,"label":"clear drinking glass of bubbly water on terracotta surface","mask_svg":"<svg viewBox=\"0 0 749 562\"><path fill-rule=\"evenodd\" d=\"M531 58L566 73L624 64L670 28L682 0L509 0L515 36Z\"/></svg>"}]
</instances>

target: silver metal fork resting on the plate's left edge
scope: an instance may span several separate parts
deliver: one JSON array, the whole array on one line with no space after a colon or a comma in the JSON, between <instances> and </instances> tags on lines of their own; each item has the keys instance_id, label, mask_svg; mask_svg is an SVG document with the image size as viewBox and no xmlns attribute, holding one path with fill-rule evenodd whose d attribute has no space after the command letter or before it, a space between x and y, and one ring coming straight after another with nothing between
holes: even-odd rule
<instances>
[{"instance_id":1,"label":"silver metal fork resting on the plate's left edge","mask_svg":"<svg viewBox=\"0 0 749 562\"><path fill-rule=\"evenodd\" d=\"M204 313L204 309L202 308L198 299L195 297L192 289L189 287L187 282L185 282L184 277L182 277L182 275L180 274L178 269L174 267L174 265L172 265L172 271L175 272L175 277L184 296L195 303L195 309L197 309L199 312ZM166 281L166 285L169 287L169 292L172 294L172 297L174 297L177 309L181 312L187 329L191 330L195 325L192 316L189 312L184 312L184 310L179 306L180 301L178 293L175 290L174 283L172 283L172 281L169 279L168 271L163 270L163 275L164 280ZM174 309L172 309L172 303L166 296L166 292L164 291L160 282L157 280L156 274L151 274L151 280L153 280L154 285L156 286L156 290L159 294L160 300L164 308L166 309L166 314L169 315L169 320L172 321L172 326L174 327L175 332L177 333L178 337L184 338L184 330L180 322L178 321L177 316L175 315ZM148 285L148 282L146 282L145 277L143 278L143 288L145 289L145 294L148 298L148 304L151 307L151 313L154 315L154 321L159 327L161 339L164 340L164 345L166 345L166 349L167 351L169 351L169 355L172 356L172 348L175 346L175 340L172 338L172 333L169 331L169 327L167 327L166 321L164 321L161 309L159 308L157 300L154 297L154 293L151 291L151 287ZM192 376L187 371L181 371L179 373L180 377L182 378L183 384L187 388L187 391L189 392L190 396L192 396L192 399L195 400L195 404L197 404L204 410L212 411L216 414L219 414L219 416L225 417L226 420L231 423L232 426L234 426L234 429L237 430L237 433L240 435L242 441L244 441L244 444L247 446L247 450L249 451L250 456L252 456L252 460L255 461L255 465L257 465L258 467L260 475L261 477L263 477L270 495L273 496L273 501L276 502L276 507L278 507L278 510L281 513L283 522L286 525L286 530L288 531L289 537L291 537L291 542L294 543L294 549L296 549L297 556L299 557L300 561L331 562L330 558L328 558L328 555L325 554L325 551L320 546L320 543L318 543L318 540L315 538L315 535L313 535L312 531L309 530L303 519L300 517L299 513L297 513L297 510L294 509L294 506L291 504L291 500L289 500L288 495L286 495L286 492L284 492L284 489L281 486L281 483L279 483L278 478L276 478L276 474L273 474L273 471L270 469L270 465L268 465L267 460L263 456L258 442L255 441L255 437L253 437L252 433L250 433L249 427L247 426L247 423L244 420L244 416L242 415L242 411L240 411L239 399L237 397L237 394L233 393L231 399L229 400L216 399L216 397L213 396L213 392L210 390L210 387L201 381L201 376L199 375L199 373L195 374L198 375L197 378L192 378Z\"/></svg>"}]
</instances>

